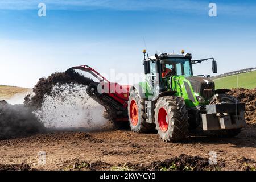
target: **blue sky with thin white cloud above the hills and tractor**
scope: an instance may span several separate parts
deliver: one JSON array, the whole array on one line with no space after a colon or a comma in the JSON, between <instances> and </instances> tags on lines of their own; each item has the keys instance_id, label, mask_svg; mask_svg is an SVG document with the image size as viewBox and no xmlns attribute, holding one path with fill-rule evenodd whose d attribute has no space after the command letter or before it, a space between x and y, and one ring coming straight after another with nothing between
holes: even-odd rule
<instances>
[{"instance_id":1,"label":"blue sky with thin white cloud above the hills and tractor","mask_svg":"<svg viewBox=\"0 0 256 182\"><path fill-rule=\"evenodd\" d=\"M217 17L208 15L210 2ZM142 73L143 37L150 55L185 49L193 59L214 57L218 74L256 67L255 9L254 1L0 0L0 84L32 88L82 64ZM194 74L213 75L210 62Z\"/></svg>"}]
</instances>

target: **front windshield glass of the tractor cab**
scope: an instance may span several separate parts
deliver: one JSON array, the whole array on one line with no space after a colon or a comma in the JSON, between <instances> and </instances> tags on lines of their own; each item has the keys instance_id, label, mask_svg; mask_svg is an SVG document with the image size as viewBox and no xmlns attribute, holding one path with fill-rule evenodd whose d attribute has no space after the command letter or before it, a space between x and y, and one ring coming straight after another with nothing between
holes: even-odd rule
<instances>
[{"instance_id":1,"label":"front windshield glass of the tractor cab","mask_svg":"<svg viewBox=\"0 0 256 182\"><path fill-rule=\"evenodd\" d=\"M189 59L184 58L169 58L161 61L162 64L166 65L166 68L175 70L175 75L186 75L191 76L191 65Z\"/></svg>"}]
</instances>

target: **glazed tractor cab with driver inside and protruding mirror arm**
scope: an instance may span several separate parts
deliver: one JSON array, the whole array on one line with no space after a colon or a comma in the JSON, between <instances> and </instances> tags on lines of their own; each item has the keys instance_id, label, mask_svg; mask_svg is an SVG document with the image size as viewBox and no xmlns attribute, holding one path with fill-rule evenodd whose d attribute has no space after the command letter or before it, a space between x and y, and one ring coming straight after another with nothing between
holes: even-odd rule
<instances>
[{"instance_id":1,"label":"glazed tractor cab with driver inside and protruding mirror arm","mask_svg":"<svg viewBox=\"0 0 256 182\"><path fill-rule=\"evenodd\" d=\"M191 53L181 54L167 54L162 53L160 55L147 57L146 51L144 53L144 72L146 75L147 83L152 90L155 90L155 86L159 86L159 92L166 90L172 90L172 77L192 77L193 69L192 65L201 63L203 61L212 60L212 71L217 73L217 64L214 58L207 58L201 60L192 60ZM177 80L174 79L174 80ZM202 80L203 78L201 78ZM176 89L175 89L176 90ZM154 91L153 91L154 92Z\"/></svg>"}]
</instances>

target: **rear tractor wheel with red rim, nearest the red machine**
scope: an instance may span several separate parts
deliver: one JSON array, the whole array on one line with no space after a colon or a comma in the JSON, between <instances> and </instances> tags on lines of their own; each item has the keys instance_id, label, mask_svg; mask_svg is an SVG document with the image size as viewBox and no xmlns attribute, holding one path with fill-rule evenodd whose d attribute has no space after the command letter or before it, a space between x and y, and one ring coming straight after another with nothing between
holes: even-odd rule
<instances>
[{"instance_id":1,"label":"rear tractor wheel with red rim, nearest the red machine","mask_svg":"<svg viewBox=\"0 0 256 182\"><path fill-rule=\"evenodd\" d=\"M129 94L128 116L131 131L148 133L155 128L154 123L146 122L145 100L139 97L137 90Z\"/></svg>"}]
</instances>

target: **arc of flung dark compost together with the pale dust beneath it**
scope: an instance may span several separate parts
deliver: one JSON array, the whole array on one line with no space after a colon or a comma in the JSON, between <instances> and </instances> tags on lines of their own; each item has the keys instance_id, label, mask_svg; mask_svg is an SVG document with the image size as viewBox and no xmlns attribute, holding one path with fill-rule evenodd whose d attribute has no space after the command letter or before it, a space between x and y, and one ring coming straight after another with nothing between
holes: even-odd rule
<instances>
[{"instance_id":1,"label":"arc of flung dark compost together with the pale dust beneath it","mask_svg":"<svg viewBox=\"0 0 256 182\"><path fill-rule=\"evenodd\" d=\"M86 93L92 79L75 71L53 73L41 78L33 89L34 95L25 98L25 105L35 108L35 115L46 127L83 127L87 131L112 127L102 117L105 108Z\"/></svg>"}]
</instances>

